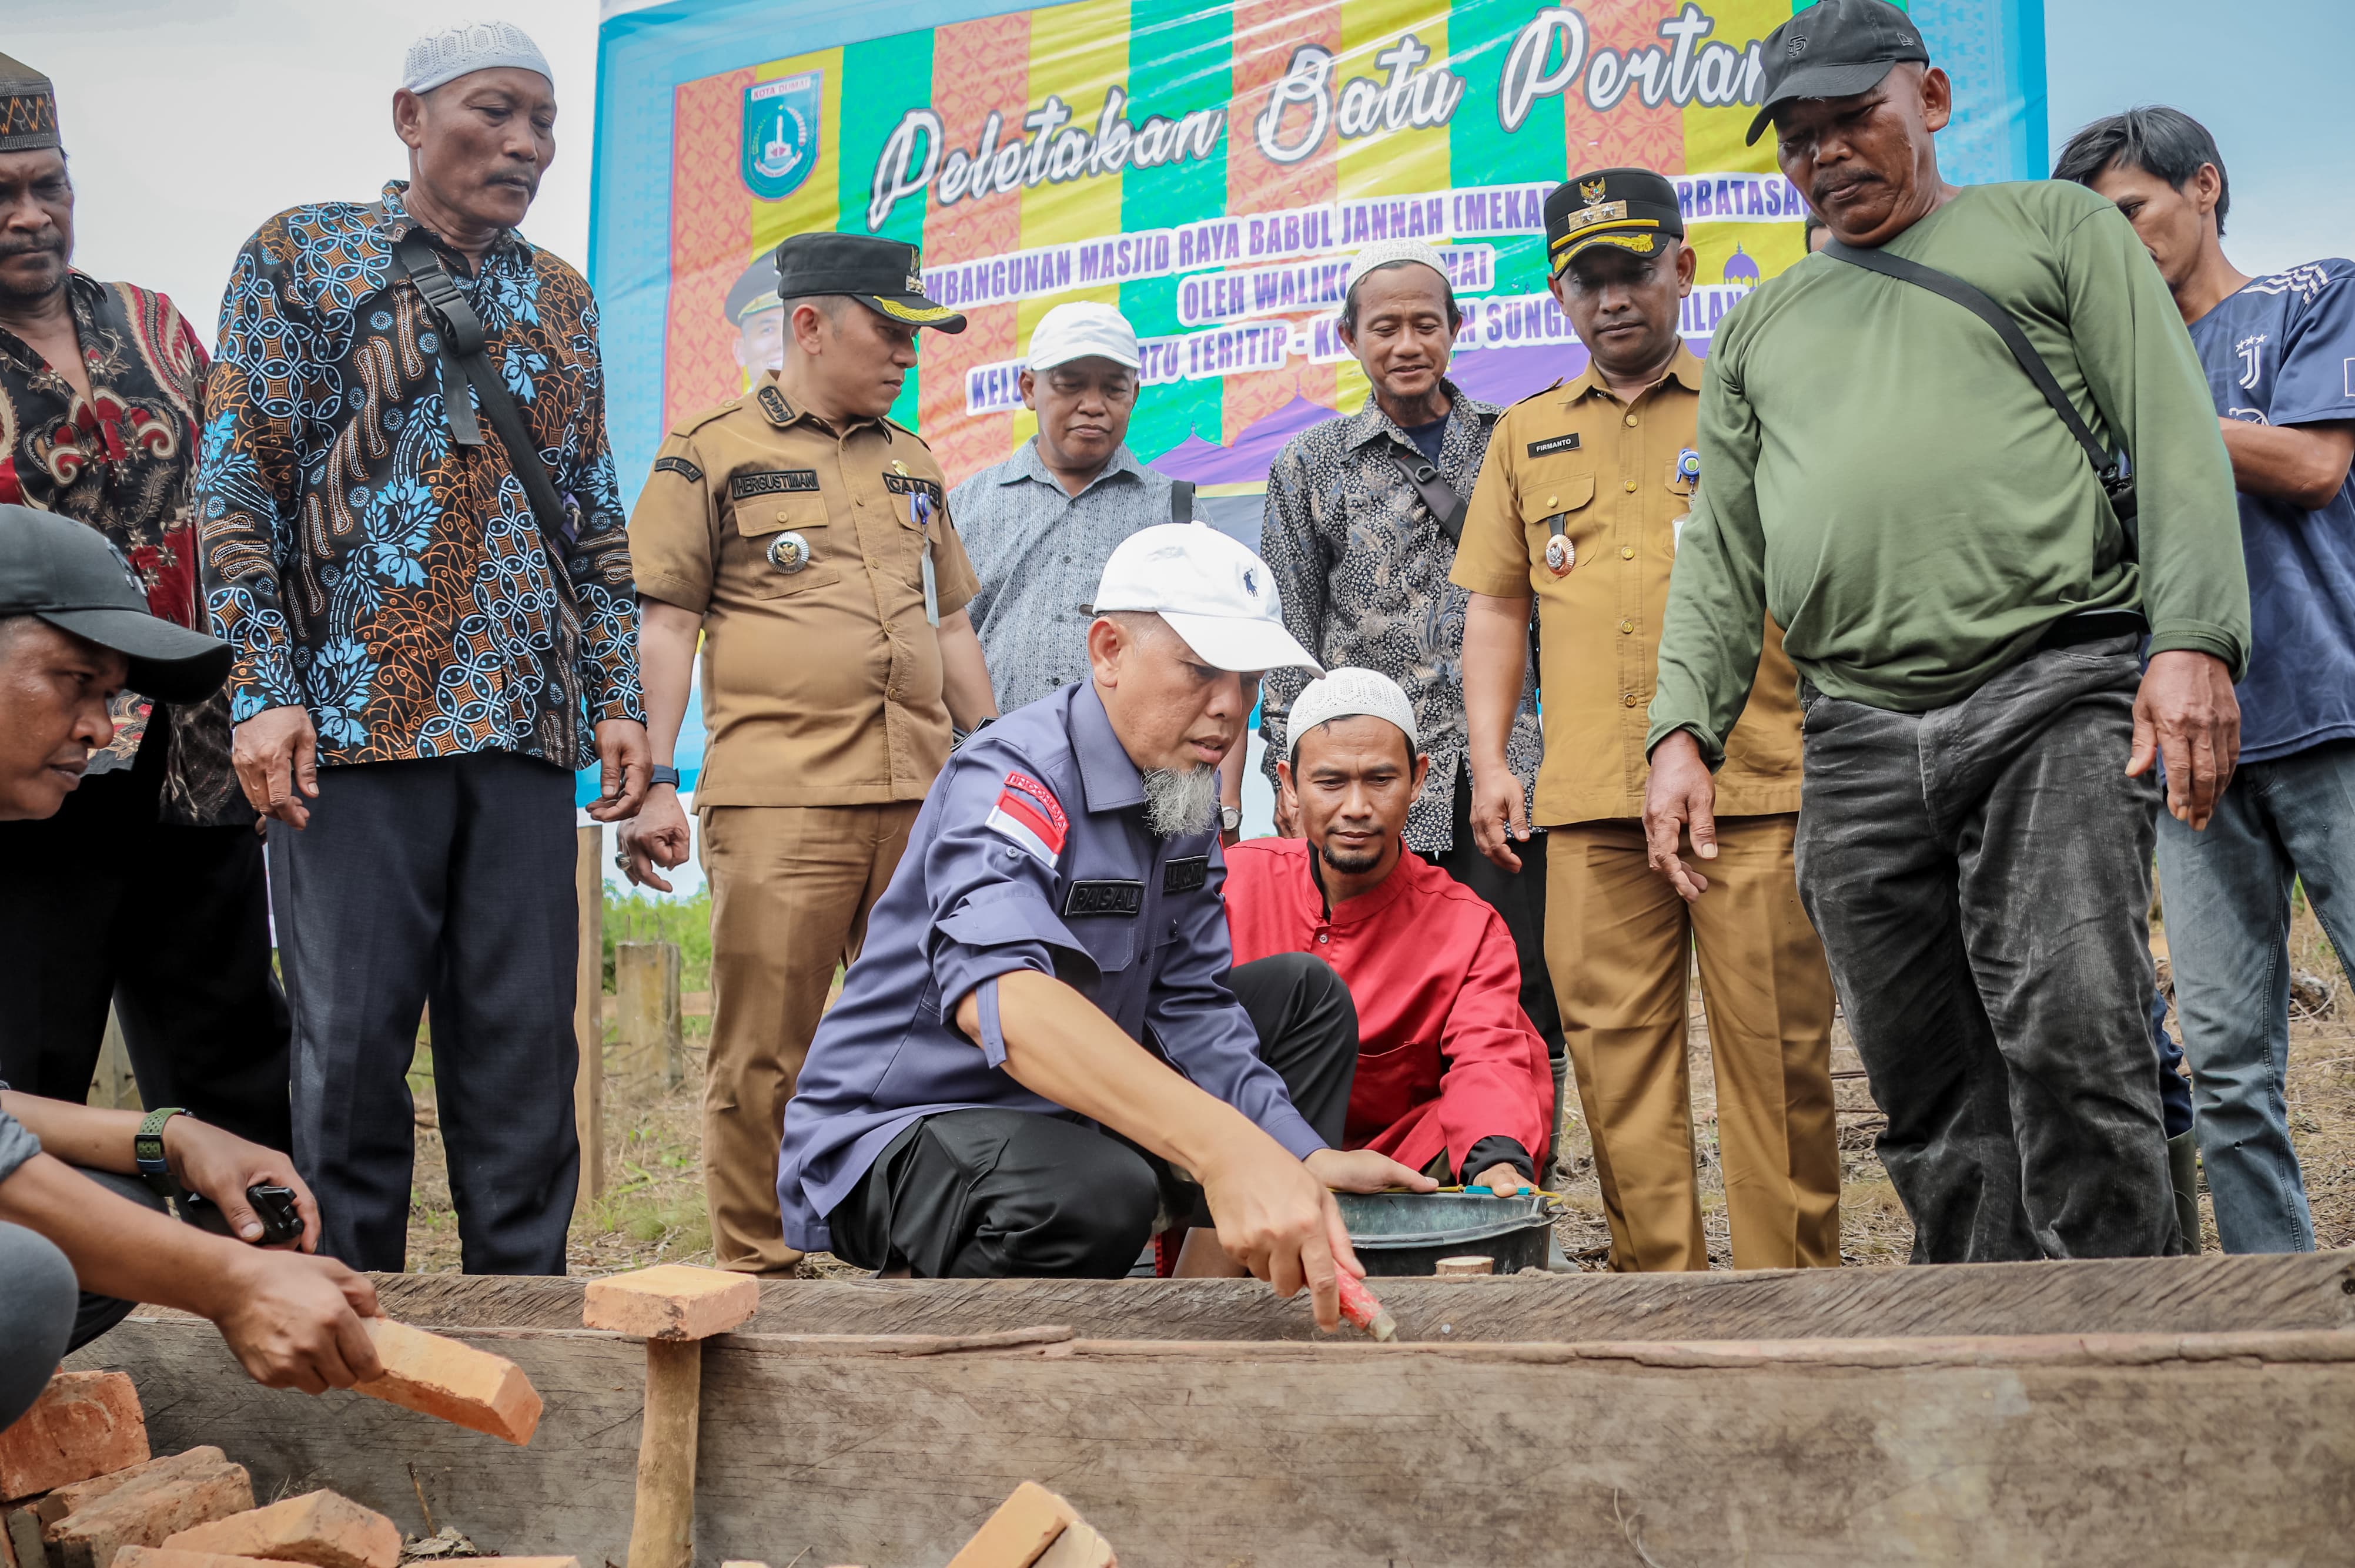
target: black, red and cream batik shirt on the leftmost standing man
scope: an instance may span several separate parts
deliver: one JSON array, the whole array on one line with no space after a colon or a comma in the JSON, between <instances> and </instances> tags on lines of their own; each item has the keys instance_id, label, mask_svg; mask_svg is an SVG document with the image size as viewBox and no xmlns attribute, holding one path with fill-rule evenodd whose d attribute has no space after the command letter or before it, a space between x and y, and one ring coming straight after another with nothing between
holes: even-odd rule
<instances>
[{"instance_id":1,"label":"black, red and cream batik shirt on the leftmost standing man","mask_svg":"<svg viewBox=\"0 0 2355 1568\"><path fill-rule=\"evenodd\" d=\"M0 501L78 518L106 534L146 586L148 610L200 626L195 591L195 407L205 351L172 301L130 283L66 273L89 400L21 337L0 330ZM115 739L89 772L127 770L153 704L122 692ZM228 768L228 699L170 711L167 822L240 815Z\"/></svg>"}]
</instances>

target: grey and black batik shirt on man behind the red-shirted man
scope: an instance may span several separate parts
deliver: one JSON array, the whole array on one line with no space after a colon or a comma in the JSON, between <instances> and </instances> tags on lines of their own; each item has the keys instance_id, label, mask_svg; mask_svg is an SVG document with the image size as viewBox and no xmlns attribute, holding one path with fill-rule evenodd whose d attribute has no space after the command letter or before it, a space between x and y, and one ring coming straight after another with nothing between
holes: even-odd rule
<instances>
[{"instance_id":1,"label":"grey and black batik shirt on man behind the red-shirted man","mask_svg":"<svg viewBox=\"0 0 2355 1568\"><path fill-rule=\"evenodd\" d=\"M1453 381L1439 386L1451 407L1437 466L1455 494L1472 494L1488 433L1505 410L1462 396ZM1467 746L1470 593L1448 582L1455 544L1392 452L1422 461L1373 396L1359 412L1293 436L1267 476L1260 558L1276 579L1283 624L1326 669L1375 669L1406 687L1422 751L1432 758L1432 775L1406 812L1406 843L1444 855L1455 848L1455 772ZM1307 683L1307 671L1272 669L1260 687L1269 782L1276 763L1288 760L1286 716ZM1524 800L1540 758L1535 678L1524 671L1521 709L1505 737L1505 760L1521 779Z\"/></svg>"}]
</instances>

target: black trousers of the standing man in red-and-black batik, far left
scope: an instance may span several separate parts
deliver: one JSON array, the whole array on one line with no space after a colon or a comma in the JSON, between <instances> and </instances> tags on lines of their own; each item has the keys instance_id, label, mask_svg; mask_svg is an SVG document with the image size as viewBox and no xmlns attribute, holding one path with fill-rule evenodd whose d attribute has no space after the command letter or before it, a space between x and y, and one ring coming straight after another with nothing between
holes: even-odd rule
<instances>
[{"instance_id":1,"label":"black trousers of the standing man in red-and-black batik, far left","mask_svg":"<svg viewBox=\"0 0 2355 1568\"><path fill-rule=\"evenodd\" d=\"M0 1081L89 1097L106 1005L139 1099L287 1147L287 1005L271 975L261 841L155 819L162 711L130 772L42 822L0 822Z\"/></svg>"}]
</instances>

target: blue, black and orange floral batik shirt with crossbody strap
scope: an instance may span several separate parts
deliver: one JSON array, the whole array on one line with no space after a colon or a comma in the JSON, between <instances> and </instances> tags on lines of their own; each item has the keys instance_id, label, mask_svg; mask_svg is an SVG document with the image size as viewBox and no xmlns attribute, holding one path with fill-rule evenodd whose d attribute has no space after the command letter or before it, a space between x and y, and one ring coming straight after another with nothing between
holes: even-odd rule
<instances>
[{"instance_id":1,"label":"blue, black and orange floral batik shirt with crossbody strap","mask_svg":"<svg viewBox=\"0 0 2355 1568\"><path fill-rule=\"evenodd\" d=\"M393 280L405 188L280 212L221 299L198 511L231 713L306 706L330 765L586 768L591 725L643 718L596 304L516 233L480 271L426 233L570 497L558 572L490 417L483 445L450 438L436 320Z\"/></svg>"}]
</instances>

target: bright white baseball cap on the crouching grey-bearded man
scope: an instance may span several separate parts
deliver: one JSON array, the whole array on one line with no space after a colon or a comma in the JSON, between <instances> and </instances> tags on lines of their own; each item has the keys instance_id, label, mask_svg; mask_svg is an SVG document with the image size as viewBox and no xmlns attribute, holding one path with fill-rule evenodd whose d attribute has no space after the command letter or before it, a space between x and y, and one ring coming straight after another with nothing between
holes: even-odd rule
<instances>
[{"instance_id":1,"label":"bright white baseball cap on the crouching grey-bearded man","mask_svg":"<svg viewBox=\"0 0 2355 1568\"><path fill-rule=\"evenodd\" d=\"M1095 586L1095 612L1107 610L1159 614L1218 669L1324 673L1283 629L1267 563L1208 523L1156 523L1121 539Z\"/></svg>"}]
</instances>

